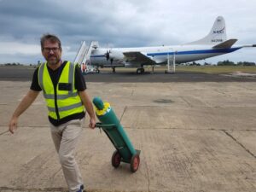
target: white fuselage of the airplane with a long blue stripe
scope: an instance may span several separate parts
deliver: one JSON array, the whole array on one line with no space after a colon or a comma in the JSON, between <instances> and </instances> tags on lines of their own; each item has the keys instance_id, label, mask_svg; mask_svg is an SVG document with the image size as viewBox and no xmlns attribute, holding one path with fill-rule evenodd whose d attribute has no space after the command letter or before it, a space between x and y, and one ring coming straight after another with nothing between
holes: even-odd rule
<instances>
[{"instance_id":1,"label":"white fuselage of the airplane with a long blue stripe","mask_svg":"<svg viewBox=\"0 0 256 192\"><path fill-rule=\"evenodd\" d=\"M168 57L172 60L175 56L176 63L198 61L216 55L223 55L241 49L241 47L229 49L212 49L212 45L178 45L158 47L137 47L137 48L97 48L93 49L90 55L90 64L102 67L125 66L140 67L147 65L137 61L129 61L125 58L124 52L140 52L155 61L157 65L165 65ZM109 59L106 53L109 51Z\"/></svg>"}]
</instances>

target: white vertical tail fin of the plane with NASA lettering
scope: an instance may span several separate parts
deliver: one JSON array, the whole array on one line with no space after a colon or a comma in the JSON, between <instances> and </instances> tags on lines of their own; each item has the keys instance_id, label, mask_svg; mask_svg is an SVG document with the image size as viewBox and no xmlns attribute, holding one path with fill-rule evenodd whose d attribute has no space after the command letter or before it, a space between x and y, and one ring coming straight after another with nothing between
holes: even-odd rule
<instances>
[{"instance_id":1,"label":"white vertical tail fin of the plane with NASA lettering","mask_svg":"<svg viewBox=\"0 0 256 192\"><path fill-rule=\"evenodd\" d=\"M201 38L197 41L189 44L220 44L227 39L225 20L222 16L218 16L215 20L212 30L205 38Z\"/></svg>"}]
</instances>

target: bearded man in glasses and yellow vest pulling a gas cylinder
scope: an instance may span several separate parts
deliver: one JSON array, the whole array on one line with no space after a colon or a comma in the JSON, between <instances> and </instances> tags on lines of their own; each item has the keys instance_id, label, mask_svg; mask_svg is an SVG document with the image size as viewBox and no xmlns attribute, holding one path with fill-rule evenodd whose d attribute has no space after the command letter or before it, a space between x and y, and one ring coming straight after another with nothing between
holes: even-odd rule
<instances>
[{"instance_id":1,"label":"bearded man in glasses and yellow vest pulling a gas cylinder","mask_svg":"<svg viewBox=\"0 0 256 192\"><path fill-rule=\"evenodd\" d=\"M89 113L89 126L92 129L96 126L96 116L85 91L80 67L70 61L61 61L60 39L55 35L44 35L41 38L41 50L46 62L35 70L30 90L9 121L9 131L15 132L20 114L26 111L43 90L49 110L51 136L69 191L82 192L84 184L74 159L74 150L82 131L84 107Z\"/></svg>"}]
</instances>

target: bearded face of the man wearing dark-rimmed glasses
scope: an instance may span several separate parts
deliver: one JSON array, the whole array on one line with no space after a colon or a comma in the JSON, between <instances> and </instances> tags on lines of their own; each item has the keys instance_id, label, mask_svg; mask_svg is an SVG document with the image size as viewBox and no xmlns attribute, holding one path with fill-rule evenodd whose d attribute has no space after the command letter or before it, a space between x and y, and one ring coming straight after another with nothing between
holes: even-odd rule
<instances>
[{"instance_id":1,"label":"bearded face of the man wearing dark-rimmed glasses","mask_svg":"<svg viewBox=\"0 0 256 192\"><path fill-rule=\"evenodd\" d=\"M55 66L61 61L61 49L58 43L51 43L49 40L44 42L42 54L49 65Z\"/></svg>"}]
</instances>

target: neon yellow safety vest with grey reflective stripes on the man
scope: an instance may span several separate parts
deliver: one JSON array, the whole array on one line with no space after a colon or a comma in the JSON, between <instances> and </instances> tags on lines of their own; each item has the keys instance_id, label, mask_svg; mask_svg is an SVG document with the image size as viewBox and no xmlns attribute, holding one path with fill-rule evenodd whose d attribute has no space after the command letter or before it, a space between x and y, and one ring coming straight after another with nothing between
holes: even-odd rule
<instances>
[{"instance_id":1,"label":"neon yellow safety vest with grey reflective stripes on the man","mask_svg":"<svg viewBox=\"0 0 256 192\"><path fill-rule=\"evenodd\" d=\"M75 65L67 61L56 90L49 76L47 62L38 69L38 84L44 91L44 99L52 119L63 119L74 113L82 113L84 106L74 86Z\"/></svg>"}]
</instances>

